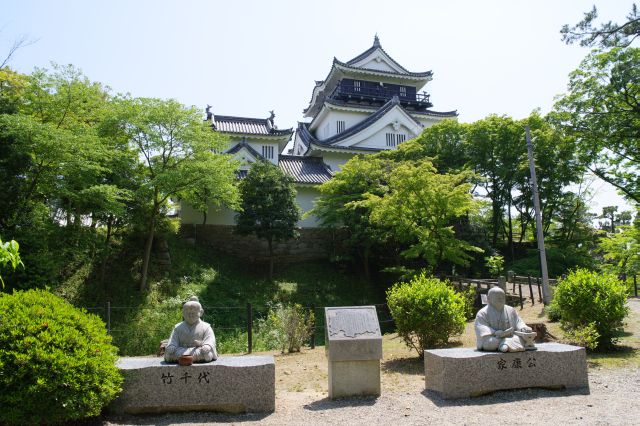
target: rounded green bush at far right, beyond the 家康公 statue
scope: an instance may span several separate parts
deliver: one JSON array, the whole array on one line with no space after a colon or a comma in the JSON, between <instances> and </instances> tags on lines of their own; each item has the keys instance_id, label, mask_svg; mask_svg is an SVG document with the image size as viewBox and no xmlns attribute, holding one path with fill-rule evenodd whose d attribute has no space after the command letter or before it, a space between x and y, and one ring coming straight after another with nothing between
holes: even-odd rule
<instances>
[{"instance_id":1,"label":"rounded green bush at far right, beyond the \u5bb6\u5eb7\u516c statue","mask_svg":"<svg viewBox=\"0 0 640 426\"><path fill-rule=\"evenodd\" d=\"M578 269L558 283L552 310L558 310L563 328L570 333L594 328L597 348L607 349L623 331L629 313L626 302L627 289L614 275Z\"/></svg>"}]
</instances>

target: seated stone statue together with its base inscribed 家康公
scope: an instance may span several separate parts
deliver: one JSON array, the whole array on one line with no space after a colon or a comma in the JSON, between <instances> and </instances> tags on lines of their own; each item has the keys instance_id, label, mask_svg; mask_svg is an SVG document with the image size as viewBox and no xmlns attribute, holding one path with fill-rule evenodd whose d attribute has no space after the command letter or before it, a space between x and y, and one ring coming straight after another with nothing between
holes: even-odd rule
<instances>
[{"instance_id":1,"label":"seated stone statue together with its base inscribed \u5bb6\u5eb7\u516c","mask_svg":"<svg viewBox=\"0 0 640 426\"><path fill-rule=\"evenodd\" d=\"M529 387L587 388L584 348L534 343L536 332L505 305L505 293L493 287L488 304L476 315L477 349L424 351L425 387L444 399L478 396Z\"/></svg>"}]
</instances>

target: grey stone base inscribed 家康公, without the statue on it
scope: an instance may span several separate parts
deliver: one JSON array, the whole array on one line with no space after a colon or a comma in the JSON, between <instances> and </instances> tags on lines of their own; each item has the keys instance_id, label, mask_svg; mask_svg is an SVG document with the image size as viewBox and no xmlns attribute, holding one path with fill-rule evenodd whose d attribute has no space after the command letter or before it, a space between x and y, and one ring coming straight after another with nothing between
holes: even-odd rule
<instances>
[{"instance_id":1,"label":"grey stone base inscribed \u5bb6\u5eb7\u516c, without the statue on it","mask_svg":"<svg viewBox=\"0 0 640 426\"><path fill-rule=\"evenodd\" d=\"M424 351L425 387L444 399L479 396L517 388L589 386L584 348L539 343L538 350L514 353L471 348Z\"/></svg>"}]
</instances>

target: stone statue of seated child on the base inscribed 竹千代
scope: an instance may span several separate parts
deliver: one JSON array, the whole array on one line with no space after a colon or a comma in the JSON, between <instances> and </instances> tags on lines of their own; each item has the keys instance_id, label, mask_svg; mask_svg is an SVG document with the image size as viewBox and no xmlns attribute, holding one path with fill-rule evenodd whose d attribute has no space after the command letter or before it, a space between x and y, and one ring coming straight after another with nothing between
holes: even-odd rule
<instances>
[{"instance_id":1,"label":"stone statue of seated child on the base inscribed \u7af9\u5343\u4ee3","mask_svg":"<svg viewBox=\"0 0 640 426\"><path fill-rule=\"evenodd\" d=\"M216 337L211 326L202 321L204 310L198 298L192 296L182 306L182 321L171 332L165 349L164 360L177 362L182 355L193 356L194 362L209 362L218 359Z\"/></svg>"}]
</instances>

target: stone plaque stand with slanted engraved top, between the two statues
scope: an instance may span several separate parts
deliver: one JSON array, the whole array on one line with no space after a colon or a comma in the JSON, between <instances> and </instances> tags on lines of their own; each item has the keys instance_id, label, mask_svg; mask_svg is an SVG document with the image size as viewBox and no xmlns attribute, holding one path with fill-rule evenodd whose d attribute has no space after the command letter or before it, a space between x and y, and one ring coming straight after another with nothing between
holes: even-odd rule
<instances>
[{"instance_id":1,"label":"stone plaque stand with slanted engraved top, between the two statues","mask_svg":"<svg viewBox=\"0 0 640 426\"><path fill-rule=\"evenodd\" d=\"M382 334L375 306L325 308L329 398L380 395Z\"/></svg>"}]
</instances>

